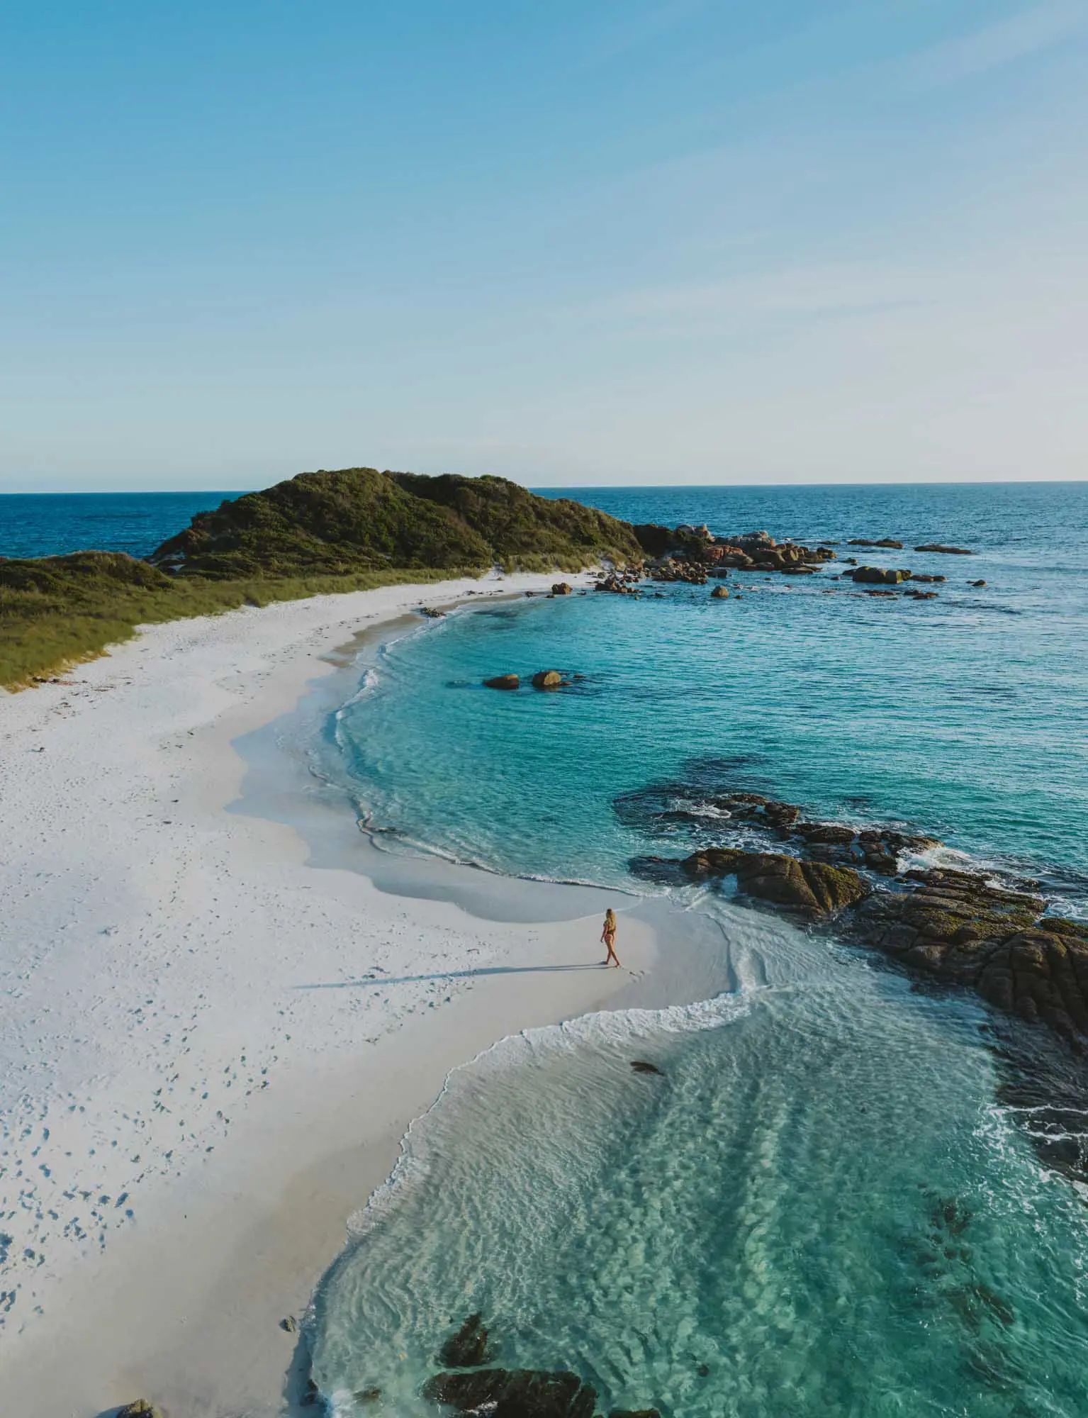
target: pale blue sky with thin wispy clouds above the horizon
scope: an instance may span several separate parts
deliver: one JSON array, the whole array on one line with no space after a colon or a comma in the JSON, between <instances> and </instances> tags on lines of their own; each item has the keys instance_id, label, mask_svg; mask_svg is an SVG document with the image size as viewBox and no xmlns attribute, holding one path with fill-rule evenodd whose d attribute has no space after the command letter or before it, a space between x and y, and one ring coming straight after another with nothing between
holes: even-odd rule
<instances>
[{"instance_id":1,"label":"pale blue sky with thin wispy clouds above the horizon","mask_svg":"<svg viewBox=\"0 0 1088 1418\"><path fill-rule=\"evenodd\" d=\"M1088 0L0 9L0 489L1088 475Z\"/></svg>"}]
</instances>

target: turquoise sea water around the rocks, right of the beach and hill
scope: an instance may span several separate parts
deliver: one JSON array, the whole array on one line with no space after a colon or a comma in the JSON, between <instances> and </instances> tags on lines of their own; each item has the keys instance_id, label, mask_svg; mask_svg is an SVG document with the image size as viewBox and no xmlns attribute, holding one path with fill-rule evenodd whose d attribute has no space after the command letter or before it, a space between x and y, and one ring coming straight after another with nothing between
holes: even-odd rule
<instances>
[{"instance_id":1,"label":"turquoise sea water around the rocks, right of the beach and hill","mask_svg":"<svg viewBox=\"0 0 1088 1418\"><path fill-rule=\"evenodd\" d=\"M1088 488L609 496L586 501L978 554L858 552L946 574L919 604L741 574L724 604L666 587L428 625L377 657L320 754L387 845L639 891L632 856L713 841L700 794L744 787L935 831L1085 910ZM585 679L479 685L551 665ZM677 825L642 810L654 784ZM1088 1212L997 1103L983 1011L713 895L690 905L744 984L455 1073L319 1295L323 1394L348 1414L377 1385L382 1411L424 1412L439 1341L482 1309L500 1363L574 1368L604 1411L1088 1411ZM639 1056L664 1079L633 1075Z\"/></svg>"}]
</instances>

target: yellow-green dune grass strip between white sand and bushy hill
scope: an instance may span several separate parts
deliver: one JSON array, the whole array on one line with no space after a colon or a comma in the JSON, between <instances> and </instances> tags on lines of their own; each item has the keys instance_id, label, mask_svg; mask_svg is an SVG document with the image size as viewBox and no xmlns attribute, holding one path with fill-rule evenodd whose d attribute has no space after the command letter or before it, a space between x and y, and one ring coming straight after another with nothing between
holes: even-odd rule
<instances>
[{"instance_id":1,"label":"yellow-green dune grass strip between white sand and bushy hill","mask_svg":"<svg viewBox=\"0 0 1088 1418\"><path fill-rule=\"evenodd\" d=\"M0 685L26 688L67 665L94 659L106 647L130 640L137 625L459 574L479 576L482 567L204 580L170 577L115 552L0 560Z\"/></svg>"}]
</instances>

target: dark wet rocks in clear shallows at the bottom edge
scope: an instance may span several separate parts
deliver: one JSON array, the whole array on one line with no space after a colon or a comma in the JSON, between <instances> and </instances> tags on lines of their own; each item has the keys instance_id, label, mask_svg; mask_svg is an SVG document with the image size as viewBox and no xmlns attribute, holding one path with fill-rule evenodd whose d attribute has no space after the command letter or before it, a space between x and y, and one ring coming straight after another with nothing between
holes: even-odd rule
<instances>
[{"instance_id":1,"label":"dark wet rocks in clear shallows at the bottom edge","mask_svg":"<svg viewBox=\"0 0 1088 1418\"><path fill-rule=\"evenodd\" d=\"M483 1316L470 1314L438 1354L446 1368L424 1384L424 1398L487 1418L598 1418L596 1390L570 1370L483 1368L492 1360ZM613 1408L609 1418L660 1418L656 1408Z\"/></svg>"}]
</instances>

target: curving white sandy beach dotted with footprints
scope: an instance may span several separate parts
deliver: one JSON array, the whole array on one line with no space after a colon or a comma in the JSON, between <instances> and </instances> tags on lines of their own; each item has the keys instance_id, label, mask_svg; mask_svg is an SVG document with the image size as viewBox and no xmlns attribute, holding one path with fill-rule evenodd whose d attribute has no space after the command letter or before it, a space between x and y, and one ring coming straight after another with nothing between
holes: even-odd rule
<instances>
[{"instance_id":1,"label":"curving white sandy beach dotted with footprints","mask_svg":"<svg viewBox=\"0 0 1088 1418\"><path fill-rule=\"evenodd\" d=\"M554 888L564 920L483 920L313 866L292 827L227 811L232 742L354 634L541 584L153 627L0 698L6 1412L290 1411L279 1320L302 1316L445 1072L630 993L628 970L594 964L605 892ZM628 919L622 946L645 973L650 926Z\"/></svg>"}]
</instances>

